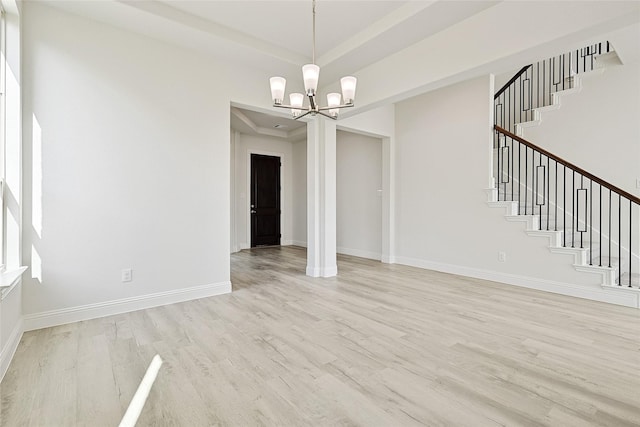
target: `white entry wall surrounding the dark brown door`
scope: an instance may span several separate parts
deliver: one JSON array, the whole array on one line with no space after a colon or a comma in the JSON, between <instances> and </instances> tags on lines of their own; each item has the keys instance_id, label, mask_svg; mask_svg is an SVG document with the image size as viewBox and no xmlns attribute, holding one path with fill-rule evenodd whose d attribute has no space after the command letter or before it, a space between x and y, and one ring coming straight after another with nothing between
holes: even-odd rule
<instances>
[{"instance_id":1,"label":"white entry wall surrounding the dark brown door","mask_svg":"<svg viewBox=\"0 0 640 427\"><path fill-rule=\"evenodd\" d=\"M270 136L253 136L238 133L235 139L235 230L236 250L246 249L251 246L251 225L249 204L251 193L249 189L249 173L251 171L251 154L266 154L280 157L282 168L280 179L282 191L280 193L280 218L281 244L290 245L293 240L293 157L292 143L281 138ZM305 200L305 199L303 199Z\"/></svg>"}]
</instances>

